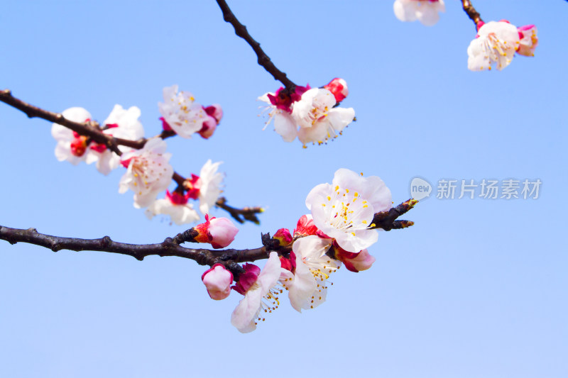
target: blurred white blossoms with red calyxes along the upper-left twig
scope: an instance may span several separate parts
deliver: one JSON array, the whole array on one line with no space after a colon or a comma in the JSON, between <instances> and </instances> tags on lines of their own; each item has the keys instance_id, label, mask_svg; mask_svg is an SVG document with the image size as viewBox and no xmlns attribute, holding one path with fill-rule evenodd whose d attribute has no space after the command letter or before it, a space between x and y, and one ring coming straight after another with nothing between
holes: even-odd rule
<instances>
[{"instance_id":1,"label":"blurred white blossoms with red calyxes along the upper-left twig","mask_svg":"<svg viewBox=\"0 0 568 378\"><path fill-rule=\"evenodd\" d=\"M203 138L209 138L217 128L222 118L221 106L203 107L195 103L188 92L180 91L178 86L166 87L163 90L165 104L159 103L162 114L163 128L173 130L183 138L190 138L192 133L199 133ZM98 128L93 123L94 132L102 132L114 138L136 141L144 136L144 129L138 118L140 109L132 106L123 109L116 105L108 118ZM68 121L89 123L91 114L83 108L70 108L62 112ZM103 174L122 166L126 173L119 182L119 193L130 189L134 192L134 206L138 209L147 208L146 216L153 218L158 214L171 217L178 225L192 223L200 219L199 213L189 203L190 199L199 201L201 213L207 214L219 198L222 191L224 174L218 172L221 162L207 160L200 174L192 174L183 185L174 191L168 191L174 170L170 165L171 154L166 152L168 146L160 135L146 140L143 148L119 145L120 155L112 152L107 145L90 140L86 135L54 123L51 129L53 138L57 140L55 157L67 160L73 165L79 162L97 163L97 169ZM165 198L157 199L160 192L165 191Z\"/></svg>"}]
</instances>

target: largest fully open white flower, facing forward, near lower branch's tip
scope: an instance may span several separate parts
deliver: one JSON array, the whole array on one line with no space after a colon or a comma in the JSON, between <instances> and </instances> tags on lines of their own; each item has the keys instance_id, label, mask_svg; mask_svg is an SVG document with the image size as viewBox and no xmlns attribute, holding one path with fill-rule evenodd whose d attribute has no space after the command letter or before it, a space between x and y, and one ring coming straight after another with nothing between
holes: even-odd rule
<instances>
[{"instance_id":1,"label":"largest fully open white flower, facing forward, near lower branch's tip","mask_svg":"<svg viewBox=\"0 0 568 378\"><path fill-rule=\"evenodd\" d=\"M391 209L391 191L376 176L361 177L349 169L338 169L332 184L317 185L306 198L314 224L334 238L339 247L359 252L378 239L371 230L373 216Z\"/></svg>"}]
</instances>

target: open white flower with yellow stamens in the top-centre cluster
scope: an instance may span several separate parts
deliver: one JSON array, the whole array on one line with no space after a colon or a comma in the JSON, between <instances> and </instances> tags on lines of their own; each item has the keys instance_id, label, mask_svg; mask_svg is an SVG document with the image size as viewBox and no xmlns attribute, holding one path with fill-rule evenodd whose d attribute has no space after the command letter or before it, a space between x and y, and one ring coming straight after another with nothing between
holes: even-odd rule
<instances>
[{"instance_id":1,"label":"open white flower with yellow stamens in the top-centre cluster","mask_svg":"<svg viewBox=\"0 0 568 378\"><path fill-rule=\"evenodd\" d=\"M334 108L335 96L327 89L314 88L294 104L292 116L300 126L297 137L306 143L325 143L336 138L355 118L353 108Z\"/></svg>"}]
</instances>

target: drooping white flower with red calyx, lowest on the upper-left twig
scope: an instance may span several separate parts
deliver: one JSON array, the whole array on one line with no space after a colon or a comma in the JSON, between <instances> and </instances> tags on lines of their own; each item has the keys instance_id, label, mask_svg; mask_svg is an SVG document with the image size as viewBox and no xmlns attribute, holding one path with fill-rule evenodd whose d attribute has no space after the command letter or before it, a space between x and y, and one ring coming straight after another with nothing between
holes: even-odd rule
<instances>
[{"instance_id":1,"label":"drooping white flower with red calyx, lowest on the upper-left twig","mask_svg":"<svg viewBox=\"0 0 568 378\"><path fill-rule=\"evenodd\" d=\"M192 204L187 203L188 199L187 194L180 194L177 191L170 193L167 190L164 199L156 199L148 206L145 211L146 216L151 219L158 214L168 215L178 226L199 221L200 215L193 209Z\"/></svg>"}]
</instances>

